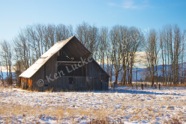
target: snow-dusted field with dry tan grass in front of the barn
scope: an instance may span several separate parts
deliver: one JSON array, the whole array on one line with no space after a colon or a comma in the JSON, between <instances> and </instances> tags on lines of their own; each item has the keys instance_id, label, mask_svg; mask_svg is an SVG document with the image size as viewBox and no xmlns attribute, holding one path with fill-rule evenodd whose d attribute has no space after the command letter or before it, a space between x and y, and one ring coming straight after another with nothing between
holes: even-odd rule
<instances>
[{"instance_id":1,"label":"snow-dusted field with dry tan grass in front of the barn","mask_svg":"<svg viewBox=\"0 0 186 124\"><path fill-rule=\"evenodd\" d=\"M1 123L186 123L186 88L31 92L0 88Z\"/></svg>"}]
</instances>

